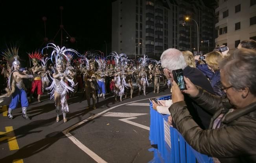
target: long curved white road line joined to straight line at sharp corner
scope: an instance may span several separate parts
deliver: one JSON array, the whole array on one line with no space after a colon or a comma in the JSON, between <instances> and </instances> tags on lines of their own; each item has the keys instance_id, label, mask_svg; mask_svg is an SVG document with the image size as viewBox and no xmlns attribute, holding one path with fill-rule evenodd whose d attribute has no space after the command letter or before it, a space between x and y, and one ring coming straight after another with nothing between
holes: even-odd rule
<instances>
[{"instance_id":1,"label":"long curved white road line joined to straight line at sharp corner","mask_svg":"<svg viewBox=\"0 0 256 163\"><path fill-rule=\"evenodd\" d=\"M164 95L166 96L166 95ZM159 97L162 97L162 96L157 96L157 97L152 97L152 98L159 98ZM142 99L142 100L137 100L137 101L143 101L143 100L148 100L149 98L145 98L145 99ZM132 102L127 102L127 103L123 103L123 104L120 104L120 105L116 105L114 107L111 107L109 109L106 109L98 114L95 114L93 116L90 116L89 118L83 120L83 121L80 121L79 123L76 123L75 125L69 127L68 129L66 130L63 130L63 134L66 135L72 142L74 142L77 147L79 147L81 150L83 150L86 154L88 154L88 156L90 156L92 159L94 159L96 162L98 163L106 163L106 161L104 161L101 157L99 157L97 154L95 154L94 152L92 152L92 150L88 149L85 145L83 145L80 141L78 141L72 134L70 134L70 130L73 130L75 129L76 127L78 127L79 125L82 125L83 123L87 122L87 121L90 121L90 120L93 120L99 116L101 116L102 114L104 114L105 112L109 111L109 110L112 110L116 107L120 107L122 105L127 105L129 103L133 103L133 102L137 102L137 101L132 101ZM126 119L126 118L125 118ZM134 118L133 118L134 119Z\"/></svg>"}]
</instances>

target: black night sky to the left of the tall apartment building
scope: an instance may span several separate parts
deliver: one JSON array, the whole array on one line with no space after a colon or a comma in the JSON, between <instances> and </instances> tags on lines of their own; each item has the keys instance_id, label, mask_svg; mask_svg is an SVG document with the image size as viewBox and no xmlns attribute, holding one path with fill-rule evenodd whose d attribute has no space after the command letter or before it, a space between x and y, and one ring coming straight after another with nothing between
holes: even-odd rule
<instances>
[{"instance_id":1,"label":"black night sky to the left of the tall apartment building","mask_svg":"<svg viewBox=\"0 0 256 163\"><path fill-rule=\"evenodd\" d=\"M75 43L66 41L68 34L63 30L63 46L73 48L84 53L85 51L101 50L105 53L105 42L111 49L111 13L112 0L53 0L28 2L0 2L0 50L6 44L16 44L19 54L27 56L32 52L45 47L44 21L46 20L46 37L53 40L61 24L61 10L63 6L62 21L64 29L76 38ZM40 4L38 4L40 3ZM25 7L22 7L25 6ZM54 39L56 45L61 45L61 31Z\"/></svg>"}]
</instances>

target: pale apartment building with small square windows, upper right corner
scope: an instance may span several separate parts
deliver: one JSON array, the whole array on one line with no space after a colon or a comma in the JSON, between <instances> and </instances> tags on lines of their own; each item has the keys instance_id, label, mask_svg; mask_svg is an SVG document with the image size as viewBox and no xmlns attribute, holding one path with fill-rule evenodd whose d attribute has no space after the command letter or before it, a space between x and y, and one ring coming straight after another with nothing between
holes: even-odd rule
<instances>
[{"instance_id":1,"label":"pale apartment building with small square windows, upper right corner","mask_svg":"<svg viewBox=\"0 0 256 163\"><path fill-rule=\"evenodd\" d=\"M218 0L215 9L216 46L227 45L230 53L242 40L256 40L256 0Z\"/></svg>"}]
</instances>

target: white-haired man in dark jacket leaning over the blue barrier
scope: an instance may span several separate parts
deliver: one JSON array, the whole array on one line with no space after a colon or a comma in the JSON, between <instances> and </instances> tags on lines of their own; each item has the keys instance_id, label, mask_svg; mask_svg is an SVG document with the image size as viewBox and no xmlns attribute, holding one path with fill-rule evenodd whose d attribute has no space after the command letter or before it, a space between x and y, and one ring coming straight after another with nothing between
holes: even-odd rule
<instances>
[{"instance_id":1,"label":"white-haired man in dark jacket leaning over the blue barrier","mask_svg":"<svg viewBox=\"0 0 256 163\"><path fill-rule=\"evenodd\" d=\"M182 52L177 49L167 49L161 55L161 64L164 69L164 74L167 79L173 80L173 70L182 69L183 75L191 80L195 85L199 85L206 91L214 94L212 86L204 74L196 68L190 67L186 64L185 58L182 55ZM185 95L185 102L190 110L190 114L193 119L204 129L208 129L212 114L206 112L202 107L197 105L189 96ZM164 106L170 106L172 104L171 101L162 100L161 103ZM166 107L157 106L156 103L153 102L153 108L158 110L158 112L163 114L168 114L168 112L161 112L161 109L166 109Z\"/></svg>"}]
</instances>

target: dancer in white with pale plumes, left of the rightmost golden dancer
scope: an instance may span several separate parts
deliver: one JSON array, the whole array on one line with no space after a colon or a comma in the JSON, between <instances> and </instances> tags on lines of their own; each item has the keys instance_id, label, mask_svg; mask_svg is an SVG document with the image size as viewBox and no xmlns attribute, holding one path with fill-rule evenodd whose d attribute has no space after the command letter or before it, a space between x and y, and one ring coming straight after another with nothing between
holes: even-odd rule
<instances>
[{"instance_id":1,"label":"dancer in white with pale plumes, left of the rightmost golden dancer","mask_svg":"<svg viewBox=\"0 0 256 163\"><path fill-rule=\"evenodd\" d=\"M139 75L138 75L140 78L138 95L140 95L140 91L143 88L144 96L146 96L146 84L149 85L149 83L147 81L147 72L145 71L145 67L148 65L148 61L149 61L149 58L147 58L146 55L144 55L143 58L142 57L139 58L141 71L139 72Z\"/></svg>"}]
</instances>

